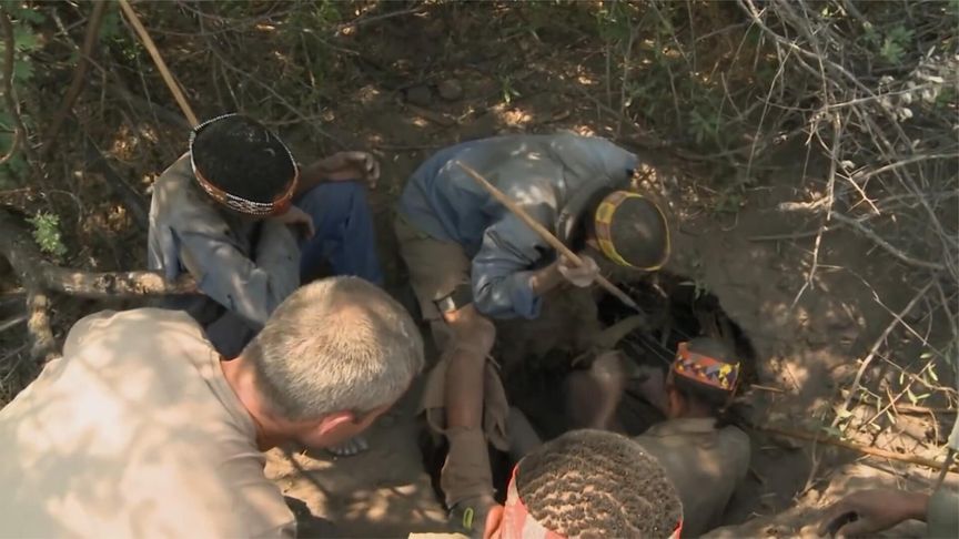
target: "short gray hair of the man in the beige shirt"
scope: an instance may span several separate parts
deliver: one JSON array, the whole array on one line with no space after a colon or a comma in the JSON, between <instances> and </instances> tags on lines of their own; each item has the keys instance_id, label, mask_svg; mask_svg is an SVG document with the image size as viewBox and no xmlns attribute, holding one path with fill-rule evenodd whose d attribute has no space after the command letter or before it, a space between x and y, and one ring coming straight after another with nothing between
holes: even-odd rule
<instances>
[{"instance_id":1,"label":"short gray hair of the man in the beige shirt","mask_svg":"<svg viewBox=\"0 0 959 539\"><path fill-rule=\"evenodd\" d=\"M332 277L280 304L243 357L277 414L316 419L393 404L423 368L423 339L385 292L357 277Z\"/></svg>"}]
</instances>

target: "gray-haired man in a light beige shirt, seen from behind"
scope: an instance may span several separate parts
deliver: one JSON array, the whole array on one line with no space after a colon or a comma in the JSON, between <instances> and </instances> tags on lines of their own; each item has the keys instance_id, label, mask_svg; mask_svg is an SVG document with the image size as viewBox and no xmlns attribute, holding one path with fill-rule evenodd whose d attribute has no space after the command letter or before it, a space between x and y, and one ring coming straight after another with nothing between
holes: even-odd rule
<instances>
[{"instance_id":1,"label":"gray-haired man in a light beige shirt, seen from behind","mask_svg":"<svg viewBox=\"0 0 959 539\"><path fill-rule=\"evenodd\" d=\"M182 312L102 312L0 410L0 536L295 532L260 451L369 427L423 366L403 307L356 277L287 297L236 358Z\"/></svg>"}]
</instances>

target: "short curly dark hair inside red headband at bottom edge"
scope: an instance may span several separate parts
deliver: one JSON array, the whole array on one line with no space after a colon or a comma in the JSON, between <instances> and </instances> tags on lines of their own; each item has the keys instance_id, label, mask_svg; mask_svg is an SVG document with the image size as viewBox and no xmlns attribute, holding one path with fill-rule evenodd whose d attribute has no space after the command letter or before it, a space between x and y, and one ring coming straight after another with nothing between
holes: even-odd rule
<instances>
[{"instance_id":1,"label":"short curly dark hair inside red headband at bottom edge","mask_svg":"<svg viewBox=\"0 0 959 539\"><path fill-rule=\"evenodd\" d=\"M516 490L533 518L565 537L665 539L683 519L659 462L604 430L573 430L527 455Z\"/></svg>"}]
</instances>

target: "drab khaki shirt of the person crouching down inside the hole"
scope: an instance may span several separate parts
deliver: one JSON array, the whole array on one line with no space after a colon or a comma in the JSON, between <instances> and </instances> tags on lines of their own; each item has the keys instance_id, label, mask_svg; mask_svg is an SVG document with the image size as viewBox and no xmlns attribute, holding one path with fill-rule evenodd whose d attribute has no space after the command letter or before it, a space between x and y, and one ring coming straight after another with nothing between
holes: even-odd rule
<instances>
[{"instance_id":1,"label":"drab khaki shirt of the person crouching down inside the hole","mask_svg":"<svg viewBox=\"0 0 959 539\"><path fill-rule=\"evenodd\" d=\"M749 437L713 418L670 419L635 440L659 460L683 501L683 537L719 525L733 492L749 470Z\"/></svg>"}]
</instances>

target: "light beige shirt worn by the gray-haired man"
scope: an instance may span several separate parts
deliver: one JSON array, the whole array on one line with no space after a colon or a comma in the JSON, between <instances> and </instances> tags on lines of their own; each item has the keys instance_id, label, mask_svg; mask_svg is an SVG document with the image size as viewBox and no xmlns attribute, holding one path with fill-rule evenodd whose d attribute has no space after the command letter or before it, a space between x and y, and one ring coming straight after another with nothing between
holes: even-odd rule
<instances>
[{"instance_id":1,"label":"light beige shirt worn by the gray-haired man","mask_svg":"<svg viewBox=\"0 0 959 539\"><path fill-rule=\"evenodd\" d=\"M219 362L184 313L78 322L0 410L0 537L292 535Z\"/></svg>"}]
</instances>

